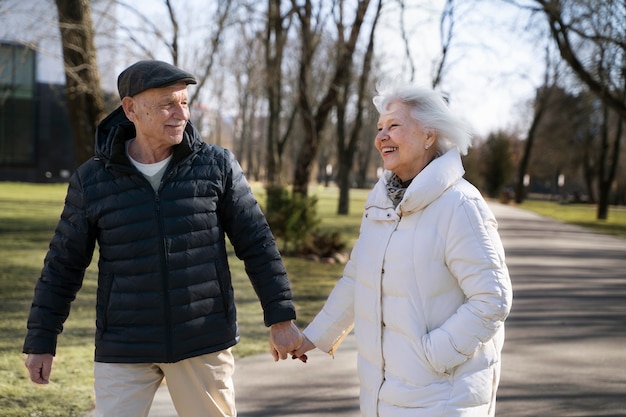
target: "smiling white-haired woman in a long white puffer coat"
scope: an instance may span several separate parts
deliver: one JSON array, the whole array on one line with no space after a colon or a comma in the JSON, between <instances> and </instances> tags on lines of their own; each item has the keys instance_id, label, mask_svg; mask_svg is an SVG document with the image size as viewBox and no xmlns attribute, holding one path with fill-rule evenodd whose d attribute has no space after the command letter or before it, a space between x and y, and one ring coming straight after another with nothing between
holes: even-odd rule
<instances>
[{"instance_id":1,"label":"smiling white-haired woman in a long white puffer coat","mask_svg":"<svg viewBox=\"0 0 626 417\"><path fill-rule=\"evenodd\" d=\"M294 357L332 354L354 325L363 416L493 416L512 291L496 219L463 179L470 136L434 91L374 104L385 172Z\"/></svg>"}]
</instances>

